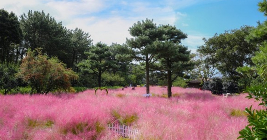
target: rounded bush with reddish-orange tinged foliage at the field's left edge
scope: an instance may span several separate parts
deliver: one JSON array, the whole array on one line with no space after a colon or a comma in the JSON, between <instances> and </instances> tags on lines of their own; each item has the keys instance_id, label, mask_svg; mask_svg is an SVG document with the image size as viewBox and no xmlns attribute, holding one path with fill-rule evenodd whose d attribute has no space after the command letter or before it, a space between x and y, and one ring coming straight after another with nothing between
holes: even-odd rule
<instances>
[{"instance_id":1,"label":"rounded bush with reddish-orange tinged foliage at the field's left edge","mask_svg":"<svg viewBox=\"0 0 267 140\"><path fill-rule=\"evenodd\" d=\"M29 50L22 60L19 76L29 83L32 93L49 93L55 91L70 91L71 80L78 75L71 69L66 69L64 63L56 57L48 59L41 49Z\"/></svg>"}]
</instances>

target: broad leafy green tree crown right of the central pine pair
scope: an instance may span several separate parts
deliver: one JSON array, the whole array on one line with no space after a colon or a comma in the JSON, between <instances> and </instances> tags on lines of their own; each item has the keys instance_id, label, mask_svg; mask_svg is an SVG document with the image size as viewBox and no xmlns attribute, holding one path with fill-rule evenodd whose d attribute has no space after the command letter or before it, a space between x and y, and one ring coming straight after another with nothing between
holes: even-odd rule
<instances>
[{"instance_id":1,"label":"broad leafy green tree crown right of the central pine pair","mask_svg":"<svg viewBox=\"0 0 267 140\"><path fill-rule=\"evenodd\" d=\"M242 66L254 66L251 57L255 55L258 47L254 43L245 41L253 27L243 26L240 29L215 34L213 37L203 39L205 44L198 47L198 52L208 55L206 62L216 65L224 76L237 81L242 77L236 69ZM246 48L246 49L244 49Z\"/></svg>"}]
</instances>

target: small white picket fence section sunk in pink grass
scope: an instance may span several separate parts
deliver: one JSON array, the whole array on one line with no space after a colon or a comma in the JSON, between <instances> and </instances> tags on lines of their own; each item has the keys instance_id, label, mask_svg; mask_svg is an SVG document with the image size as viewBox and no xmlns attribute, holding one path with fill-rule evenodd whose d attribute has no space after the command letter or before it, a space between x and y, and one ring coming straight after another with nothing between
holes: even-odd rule
<instances>
[{"instance_id":1,"label":"small white picket fence section sunk in pink grass","mask_svg":"<svg viewBox=\"0 0 267 140\"><path fill-rule=\"evenodd\" d=\"M139 134L139 130L137 128L132 128L127 125L121 125L121 124L109 124L108 128L111 131L117 132L119 135L121 135L124 138L130 138L133 140L137 139L137 135Z\"/></svg>"}]
</instances>

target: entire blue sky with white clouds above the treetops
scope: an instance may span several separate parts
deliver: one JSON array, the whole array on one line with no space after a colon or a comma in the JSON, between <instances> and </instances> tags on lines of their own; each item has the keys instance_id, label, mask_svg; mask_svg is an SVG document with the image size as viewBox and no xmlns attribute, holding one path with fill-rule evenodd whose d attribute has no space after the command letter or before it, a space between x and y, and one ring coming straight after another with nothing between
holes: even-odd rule
<instances>
[{"instance_id":1,"label":"entire blue sky with white clouds above the treetops","mask_svg":"<svg viewBox=\"0 0 267 140\"><path fill-rule=\"evenodd\" d=\"M261 0L1 0L0 7L17 16L44 10L68 29L88 32L93 43L125 43L129 27L153 19L157 25L175 25L188 38L182 42L195 52L202 38L215 33L256 26L265 17L257 9Z\"/></svg>"}]
</instances>

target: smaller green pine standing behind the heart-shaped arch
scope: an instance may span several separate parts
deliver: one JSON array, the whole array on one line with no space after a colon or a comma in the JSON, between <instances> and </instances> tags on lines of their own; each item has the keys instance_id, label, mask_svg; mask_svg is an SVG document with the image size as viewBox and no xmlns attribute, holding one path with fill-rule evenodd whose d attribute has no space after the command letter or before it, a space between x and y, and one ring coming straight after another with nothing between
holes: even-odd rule
<instances>
[{"instance_id":1,"label":"smaller green pine standing behind the heart-shaped arch","mask_svg":"<svg viewBox=\"0 0 267 140\"><path fill-rule=\"evenodd\" d=\"M88 55L88 59L81 61L78 67L83 73L95 75L98 78L98 87L101 87L102 74L117 67L116 62L112 60L114 54L111 53L110 46L102 42L90 47L90 50L85 54Z\"/></svg>"}]
</instances>

